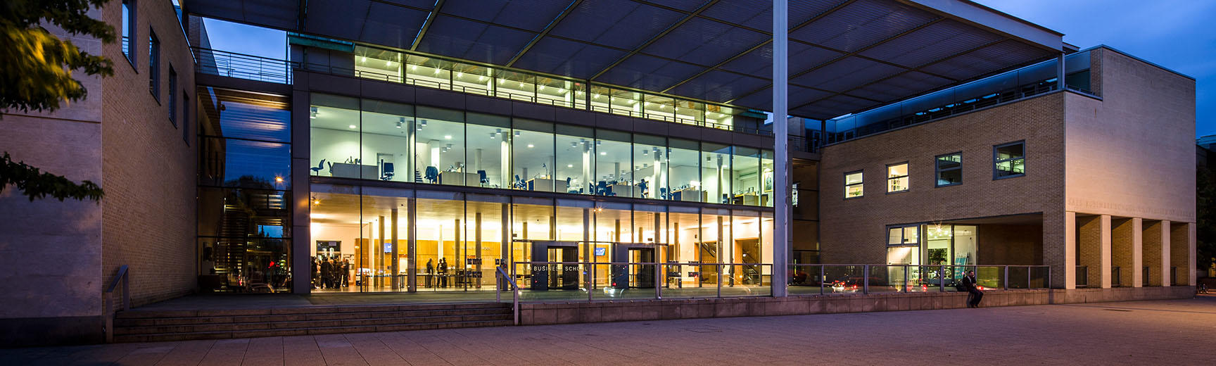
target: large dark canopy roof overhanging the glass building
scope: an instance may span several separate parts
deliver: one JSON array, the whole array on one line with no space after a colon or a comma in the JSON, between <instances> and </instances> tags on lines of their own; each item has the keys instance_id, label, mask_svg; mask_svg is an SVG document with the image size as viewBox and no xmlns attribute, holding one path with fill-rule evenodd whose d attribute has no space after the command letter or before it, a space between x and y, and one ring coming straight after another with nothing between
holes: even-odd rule
<instances>
[{"instance_id":1,"label":"large dark canopy roof overhanging the glass building","mask_svg":"<svg viewBox=\"0 0 1216 366\"><path fill-rule=\"evenodd\" d=\"M206 17L771 111L767 0L197 1ZM1052 57L966 0L789 4L789 113L826 119Z\"/></svg>"}]
</instances>

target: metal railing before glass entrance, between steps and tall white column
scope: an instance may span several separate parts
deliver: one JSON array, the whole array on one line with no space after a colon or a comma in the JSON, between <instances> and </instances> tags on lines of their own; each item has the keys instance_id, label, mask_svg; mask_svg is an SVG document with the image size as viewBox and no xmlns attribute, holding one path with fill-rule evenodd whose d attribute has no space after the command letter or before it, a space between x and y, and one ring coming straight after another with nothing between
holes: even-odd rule
<instances>
[{"instance_id":1,"label":"metal railing before glass entrance, between steps and tall white column","mask_svg":"<svg viewBox=\"0 0 1216 366\"><path fill-rule=\"evenodd\" d=\"M772 265L759 263L516 261L523 302L772 295Z\"/></svg>"}]
</instances>

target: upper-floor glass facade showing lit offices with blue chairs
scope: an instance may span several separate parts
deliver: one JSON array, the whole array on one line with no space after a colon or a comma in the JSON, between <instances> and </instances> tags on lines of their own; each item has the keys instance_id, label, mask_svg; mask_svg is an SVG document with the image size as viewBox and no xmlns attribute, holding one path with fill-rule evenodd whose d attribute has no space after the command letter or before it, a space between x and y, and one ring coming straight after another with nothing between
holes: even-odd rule
<instances>
[{"instance_id":1,"label":"upper-floor glass facade showing lit offices with blue chairs","mask_svg":"<svg viewBox=\"0 0 1216 366\"><path fill-rule=\"evenodd\" d=\"M772 205L770 150L323 94L309 111L313 175Z\"/></svg>"}]
</instances>

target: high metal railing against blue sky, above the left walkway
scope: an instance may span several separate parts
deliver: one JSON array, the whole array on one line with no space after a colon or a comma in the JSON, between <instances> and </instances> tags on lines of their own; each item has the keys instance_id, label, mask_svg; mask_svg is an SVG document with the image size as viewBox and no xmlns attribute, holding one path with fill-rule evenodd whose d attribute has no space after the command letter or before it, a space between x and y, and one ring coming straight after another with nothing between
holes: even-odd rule
<instances>
[{"instance_id":1,"label":"high metal railing against blue sky, above the left walkway","mask_svg":"<svg viewBox=\"0 0 1216 366\"><path fill-rule=\"evenodd\" d=\"M190 50L195 54L195 71L198 73L277 84L292 83L293 63L287 60L203 47Z\"/></svg>"}]
</instances>

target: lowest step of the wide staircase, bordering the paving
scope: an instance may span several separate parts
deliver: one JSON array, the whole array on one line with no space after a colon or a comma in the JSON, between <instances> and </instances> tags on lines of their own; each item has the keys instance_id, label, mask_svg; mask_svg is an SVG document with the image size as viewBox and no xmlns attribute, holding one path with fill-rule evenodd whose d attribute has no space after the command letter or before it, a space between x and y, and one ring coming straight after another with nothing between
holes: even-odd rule
<instances>
[{"instance_id":1,"label":"lowest step of the wide staircase, bordering the paving","mask_svg":"<svg viewBox=\"0 0 1216 366\"><path fill-rule=\"evenodd\" d=\"M484 320L484 321L449 321L449 322L426 322L426 323L381 325L381 326L308 327L308 328L289 328L289 330L116 334L114 342L168 342L168 340L192 340L192 339L257 338L257 337L285 337L285 336L333 334L333 333L421 331L421 330L439 330L439 328L499 327L510 325L512 325L512 320Z\"/></svg>"}]
</instances>

